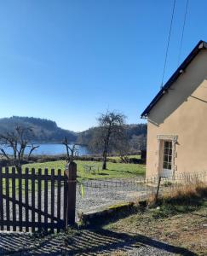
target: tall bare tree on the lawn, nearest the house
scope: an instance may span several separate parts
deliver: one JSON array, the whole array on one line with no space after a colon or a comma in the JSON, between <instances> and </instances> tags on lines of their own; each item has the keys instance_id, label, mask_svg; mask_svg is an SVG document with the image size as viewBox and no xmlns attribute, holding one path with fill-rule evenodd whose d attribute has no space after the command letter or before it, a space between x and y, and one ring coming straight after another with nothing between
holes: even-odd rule
<instances>
[{"instance_id":1,"label":"tall bare tree on the lawn, nearest the house","mask_svg":"<svg viewBox=\"0 0 207 256\"><path fill-rule=\"evenodd\" d=\"M123 134L125 116L123 113L106 112L101 113L98 118L99 129L93 137L93 147L100 150L103 156L102 170L106 170L107 154Z\"/></svg>"}]
</instances>

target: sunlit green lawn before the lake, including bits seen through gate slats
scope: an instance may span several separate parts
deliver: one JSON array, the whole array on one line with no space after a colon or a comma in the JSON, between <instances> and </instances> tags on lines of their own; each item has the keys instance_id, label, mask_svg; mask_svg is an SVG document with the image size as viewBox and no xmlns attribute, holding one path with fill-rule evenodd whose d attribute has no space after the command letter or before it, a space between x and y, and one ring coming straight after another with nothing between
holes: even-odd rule
<instances>
[{"instance_id":1,"label":"sunlit green lawn before the lake, including bits seen through gate slats","mask_svg":"<svg viewBox=\"0 0 207 256\"><path fill-rule=\"evenodd\" d=\"M89 180L89 179L111 179L111 178L133 178L137 176L145 175L145 165L138 165L138 164L124 164L124 163L112 163L107 162L107 170L102 170L101 166L102 163L100 161L83 161L77 160L77 175L78 175L78 182L82 180ZM50 161L44 163L32 163L22 166L22 173L25 173L26 167L29 168L29 173L32 173L32 168L35 169L35 173L38 173L38 169L42 169L42 174L44 174L44 169L48 169L48 173L51 174L51 169L55 169L55 175L58 174L58 170L61 170L61 175L64 175L64 170L66 166L65 160L59 161ZM84 166L93 166L95 172L86 172L84 170ZM3 168L4 169L4 168ZM4 172L4 171L3 171ZM15 171L17 172L17 171ZM9 173L12 173L12 167L9 167ZM35 190L37 190L37 180L35 181ZM5 178L3 178L3 193L5 193ZM31 191L32 182L28 180L28 189ZM44 187L44 182L42 182L42 188ZM50 187L50 183L49 183ZM24 194L25 188L25 179L22 179L22 192ZM15 191L16 195L19 193L19 179L15 179ZM12 179L9 178L9 196L11 196L12 190Z\"/></svg>"}]
</instances>

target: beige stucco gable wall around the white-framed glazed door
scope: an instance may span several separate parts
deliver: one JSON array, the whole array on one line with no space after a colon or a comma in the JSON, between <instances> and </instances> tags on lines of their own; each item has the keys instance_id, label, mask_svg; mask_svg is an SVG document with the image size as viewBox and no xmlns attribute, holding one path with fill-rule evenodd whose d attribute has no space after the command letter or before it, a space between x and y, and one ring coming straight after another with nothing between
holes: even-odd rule
<instances>
[{"instance_id":1,"label":"beige stucco gable wall around the white-framed glazed door","mask_svg":"<svg viewBox=\"0 0 207 256\"><path fill-rule=\"evenodd\" d=\"M207 170L207 50L148 114L147 177L158 174L158 135L178 136L175 174Z\"/></svg>"}]
</instances>

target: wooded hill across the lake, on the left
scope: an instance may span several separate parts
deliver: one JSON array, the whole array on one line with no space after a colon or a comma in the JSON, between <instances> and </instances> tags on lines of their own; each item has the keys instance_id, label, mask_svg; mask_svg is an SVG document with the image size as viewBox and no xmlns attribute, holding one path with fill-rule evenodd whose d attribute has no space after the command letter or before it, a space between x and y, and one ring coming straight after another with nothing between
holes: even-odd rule
<instances>
[{"instance_id":1,"label":"wooded hill across the lake, on the left","mask_svg":"<svg viewBox=\"0 0 207 256\"><path fill-rule=\"evenodd\" d=\"M67 137L70 142L77 140L77 134L74 131L58 127L55 121L33 117L13 116L0 119L0 133L13 131L16 125L31 127L32 141L38 143L59 143L64 137Z\"/></svg>"}]
</instances>

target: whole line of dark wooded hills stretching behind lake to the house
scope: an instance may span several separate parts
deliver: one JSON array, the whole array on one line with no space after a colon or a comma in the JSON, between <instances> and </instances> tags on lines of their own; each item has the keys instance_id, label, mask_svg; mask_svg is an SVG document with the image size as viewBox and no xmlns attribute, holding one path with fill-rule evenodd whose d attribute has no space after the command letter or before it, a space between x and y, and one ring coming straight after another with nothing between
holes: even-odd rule
<instances>
[{"instance_id":1,"label":"whole line of dark wooded hills stretching behind lake to the house","mask_svg":"<svg viewBox=\"0 0 207 256\"><path fill-rule=\"evenodd\" d=\"M55 123L55 121L49 119L31 118L31 117L19 117L13 116L11 118L0 119L0 134L14 131L16 126L30 127L32 133L28 133L26 136L30 142L36 143L62 143L63 139L66 138L68 143L78 143L88 146L91 153L97 153L95 151L100 150L94 147L95 137L100 133L100 125L89 128L86 131L74 132L61 129ZM111 143L109 147L110 153L120 154L120 146L122 151L127 150L128 152L136 152L147 148L147 125L126 125L124 127L124 141L117 148L114 146L115 143ZM115 140L115 137L112 136ZM119 140L119 143L121 141ZM112 146L113 145L113 146ZM119 152L118 152L119 151Z\"/></svg>"}]
</instances>

